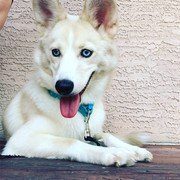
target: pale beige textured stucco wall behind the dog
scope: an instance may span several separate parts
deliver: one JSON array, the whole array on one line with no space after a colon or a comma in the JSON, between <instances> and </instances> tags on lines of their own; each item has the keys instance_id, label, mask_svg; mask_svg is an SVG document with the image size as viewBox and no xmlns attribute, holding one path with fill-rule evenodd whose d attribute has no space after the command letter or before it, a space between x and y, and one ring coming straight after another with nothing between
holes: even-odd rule
<instances>
[{"instance_id":1,"label":"pale beige textured stucco wall behind the dog","mask_svg":"<svg viewBox=\"0 0 180 180\"><path fill-rule=\"evenodd\" d=\"M71 13L82 2L64 0ZM180 143L180 1L119 0L119 67L106 95L106 129L145 131ZM0 32L0 108L33 72L37 42L30 0L15 0ZM1 116L2 118L2 116Z\"/></svg>"}]
</instances>

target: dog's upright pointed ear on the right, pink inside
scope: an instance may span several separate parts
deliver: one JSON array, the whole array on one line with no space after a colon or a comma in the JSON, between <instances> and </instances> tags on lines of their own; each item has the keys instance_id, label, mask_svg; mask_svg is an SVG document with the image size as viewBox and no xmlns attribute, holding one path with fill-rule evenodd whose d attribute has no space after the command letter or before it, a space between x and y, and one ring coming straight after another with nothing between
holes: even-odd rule
<instances>
[{"instance_id":1,"label":"dog's upright pointed ear on the right, pink inside","mask_svg":"<svg viewBox=\"0 0 180 180\"><path fill-rule=\"evenodd\" d=\"M114 0L86 0L82 19L94 28L101 27L111 36L117 31L117 5Z\"/></svg>"}]
</instances>

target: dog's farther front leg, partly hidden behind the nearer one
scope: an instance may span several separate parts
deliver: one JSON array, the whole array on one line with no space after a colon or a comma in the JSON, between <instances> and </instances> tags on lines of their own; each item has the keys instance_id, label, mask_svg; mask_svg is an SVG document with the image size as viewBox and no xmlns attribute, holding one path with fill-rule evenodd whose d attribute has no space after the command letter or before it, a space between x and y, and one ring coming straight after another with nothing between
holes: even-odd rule
<instances>
[{"instance_id":1,"label":"dog's farther front leg, partly hidden behind the nearer one","mask_svg":"<svg viewBox=\"0 0 180 180\"><path fill-rule=\"evenodd\" d=\"M151 162L153 159L153 155L146 149L130 145L109 133L97 134L94 137L97 140L103 141L107 147L123 148L134 153L136 161Z\"/></svg>"}]
</instances>

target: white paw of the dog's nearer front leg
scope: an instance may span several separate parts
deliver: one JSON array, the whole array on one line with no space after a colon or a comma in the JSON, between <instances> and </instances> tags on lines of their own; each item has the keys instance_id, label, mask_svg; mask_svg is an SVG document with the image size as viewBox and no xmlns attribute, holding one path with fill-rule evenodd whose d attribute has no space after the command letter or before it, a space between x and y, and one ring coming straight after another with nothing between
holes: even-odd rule
<instances>
[{"instance_id":1,"label":"white paw of the dog's nearer front leg","mask_svg":"<svg viewBox=\"0 0 180 180\"><path fill-rule=\"evenodd\" d=\"M106 151L102 153L101 164L110 166L133 166L136 162L135 153L120 148L106 148Z\"/></svg>"}]
</instances>

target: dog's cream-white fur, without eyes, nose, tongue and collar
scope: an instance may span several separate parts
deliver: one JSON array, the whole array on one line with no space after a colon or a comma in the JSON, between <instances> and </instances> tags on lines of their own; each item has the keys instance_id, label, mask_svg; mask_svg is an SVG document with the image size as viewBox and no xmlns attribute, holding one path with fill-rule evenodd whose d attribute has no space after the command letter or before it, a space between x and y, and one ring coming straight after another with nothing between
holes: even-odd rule
<instances>
[{"instance_id":1,"label":"dog's cream-white fur, without eyes, nose, tongue and collar","mask_svg":"<svg viewBox=\"0 0 180 180\"><path fill-rule=\"evenodd\" d=\"M51 1L48 3L47 8L56 7L58 10L57 2L55 5ZM52 19L48 23L48 18L40 14L37 6L38 3L34 1L37 22L45 28L35 52L38 71L5 112L4 126L9 140L2 154L73 159L103 165L118 163L120 166L130 166L136 161L151 161L152 155L147 150L103 133L105 111L102 98L117 62L112 34L108 34L111 27L102 31L102 28L95 28L93 22L69 15L65 19L64 14L57 22L57 13L54 23ZM53 13L54 9L50 10ZM54 58L51 55L53 48L59 48L63 56ZM93 56L89 59L80 57L82 48L93 50ZM59 100L52 98L46 90L55 91L58 80L69 79L74 82L73 92L80 93L93 71L96 73L81 102L94 103L90 118L91 134L102 139L107 148L84 142L82 115L78 113L72 119L62 117Z\"/></svg>"}]
</instances>

